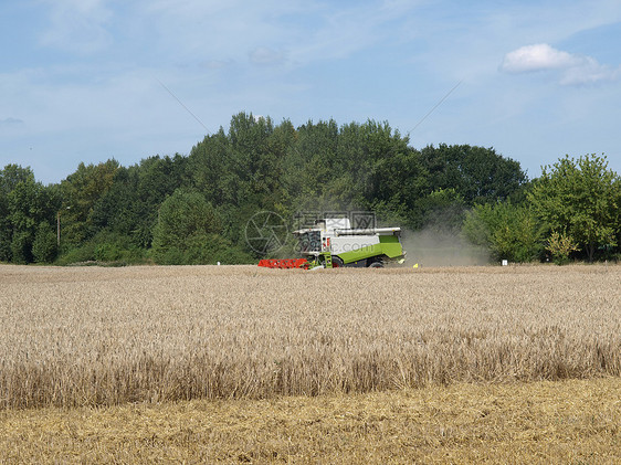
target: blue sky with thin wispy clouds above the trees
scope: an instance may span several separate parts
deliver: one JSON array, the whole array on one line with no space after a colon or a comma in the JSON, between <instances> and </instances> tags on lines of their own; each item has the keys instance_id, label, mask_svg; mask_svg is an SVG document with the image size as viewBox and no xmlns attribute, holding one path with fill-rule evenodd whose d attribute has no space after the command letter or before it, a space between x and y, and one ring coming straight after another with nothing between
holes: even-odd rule
<instances>
[{"instance_id":1,"label":"blue sky with thin wispy clouds above the trees","mask_svg":"<svg viewBox=\"0 0 621 465\"><path fill-rule=\"evenodd\" d=\"M621 173L621 1L0 0L0 168L188 155L239 112Z\"/></svg>"}]
</instances>

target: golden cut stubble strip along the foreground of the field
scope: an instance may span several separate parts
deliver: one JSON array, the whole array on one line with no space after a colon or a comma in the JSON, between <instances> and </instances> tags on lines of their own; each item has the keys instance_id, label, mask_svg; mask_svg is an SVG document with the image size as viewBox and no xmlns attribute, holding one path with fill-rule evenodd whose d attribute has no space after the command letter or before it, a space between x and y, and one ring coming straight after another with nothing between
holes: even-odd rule
<instances>
[{"instance_id":1,"label":"golden cut stubble strip along the foreground of the field","mask_svg":"<svg viewBox=\"0 0 621 465\"><path fill-rule=\"evenodd\" d=\"M0 412L0 463L621 462L621 379Z\"/></svg>"}]
</instances>

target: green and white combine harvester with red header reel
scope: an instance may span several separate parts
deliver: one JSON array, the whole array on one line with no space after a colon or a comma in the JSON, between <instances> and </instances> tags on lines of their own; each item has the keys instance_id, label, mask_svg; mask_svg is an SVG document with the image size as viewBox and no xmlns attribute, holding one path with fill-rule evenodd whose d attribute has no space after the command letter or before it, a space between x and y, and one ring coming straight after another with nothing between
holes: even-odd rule
<instances>
[{"instance_id":1,"label":"green and white combine harvester with red header reel","mask_svg":"<svg viewBox=\"0 0 621 465\"><path fill-rule=\"evenodd\" d=\"M381 268L385 263L403 263L401 228L351 229L348 218L326 219L315 228L294 231L305 258L262 260L267 268Z\"/></svg>"}]
</instances>

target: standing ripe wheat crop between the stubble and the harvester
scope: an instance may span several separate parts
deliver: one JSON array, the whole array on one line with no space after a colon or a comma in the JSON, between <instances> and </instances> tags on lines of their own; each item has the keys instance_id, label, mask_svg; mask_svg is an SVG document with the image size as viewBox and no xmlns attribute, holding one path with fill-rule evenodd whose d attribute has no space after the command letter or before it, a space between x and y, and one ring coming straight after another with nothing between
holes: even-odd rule
<instances>
[{"instance_id":1,"label":"standing ripe wheat crop between the stubble and the harvester","mask_svg":"<svg viewBox=\"0 0 621 465\"><path fill-rule=\"evenodd\" d=\"M621 373L621 267L0 266L0 408Z\"/></svg>"}]
</instances>

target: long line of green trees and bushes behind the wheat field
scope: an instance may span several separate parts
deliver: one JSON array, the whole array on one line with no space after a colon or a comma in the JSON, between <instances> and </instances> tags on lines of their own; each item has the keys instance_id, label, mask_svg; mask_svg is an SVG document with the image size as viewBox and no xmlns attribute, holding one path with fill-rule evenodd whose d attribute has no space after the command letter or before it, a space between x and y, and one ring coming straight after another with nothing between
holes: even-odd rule
<instances>
[{"instance_id":1,"label":"long line of green trees and bushes behind the wheat field","mask_svg":"<svg viewBox=\"0 0 621 465\"><path fill-rule=\"evenodd\" d=\"M0 261L253 263L259 211L376 212L380 223L467 237L494 260L621 257L621 180L606 157L566 156L529 180L493 148L415 149L388 123L294 127L240 113L182 156L80 163L43 186L0 170ZM415 251L409 251L415 254Z\"/></svg>"}]
</instances>

